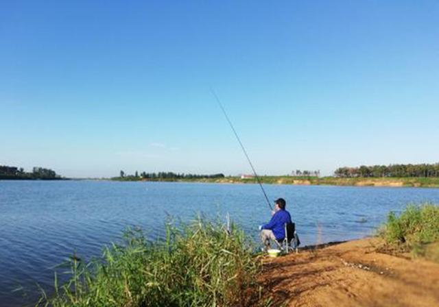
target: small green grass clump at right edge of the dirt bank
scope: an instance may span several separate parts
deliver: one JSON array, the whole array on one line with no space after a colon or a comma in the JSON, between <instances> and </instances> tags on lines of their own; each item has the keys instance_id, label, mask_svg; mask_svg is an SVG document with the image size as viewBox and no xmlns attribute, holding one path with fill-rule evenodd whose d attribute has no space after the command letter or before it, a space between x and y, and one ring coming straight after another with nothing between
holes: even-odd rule
<instances>
[{"instance_id":1,"label":"small green grass clump at right edge of the dirt bank","mask_svg":"<svg viewBox=\"0 0 439 307\"><path fill-rule=\"evenodd\" d=\"M399 215L390 212L379 233L390 246L425 256L427 245L439 242L439 206L412 204Z\"/></svg>"}]
</instances>

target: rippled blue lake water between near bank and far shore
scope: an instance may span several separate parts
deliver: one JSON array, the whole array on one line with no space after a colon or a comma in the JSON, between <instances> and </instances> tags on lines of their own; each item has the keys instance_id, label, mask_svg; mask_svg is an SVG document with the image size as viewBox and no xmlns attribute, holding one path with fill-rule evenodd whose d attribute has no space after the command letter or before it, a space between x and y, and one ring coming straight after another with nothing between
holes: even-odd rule
<instances>
[{"instance_id":1,"label":"rippled blue lake water between near bank and far shore","mask_svg":"<svg viewBox=\"0 0 439 307\"><path fill-rule=\"evenodd\" d=\"M439 203L439 189L268 185L284 197L303 245L361 238L389 210L409 202ZM0 181L0 306L34 302L38 282L50 288L54 266L77 251L99 256L102 245L139 225L152 238L170 214L230 217L248 233L270 218L259 186L158 182ZM318 231L320 229L320 231ZM23 286L26 292L16 291ZM23 296L25 295L25 296Z\"/></svg>"}]
</instances>

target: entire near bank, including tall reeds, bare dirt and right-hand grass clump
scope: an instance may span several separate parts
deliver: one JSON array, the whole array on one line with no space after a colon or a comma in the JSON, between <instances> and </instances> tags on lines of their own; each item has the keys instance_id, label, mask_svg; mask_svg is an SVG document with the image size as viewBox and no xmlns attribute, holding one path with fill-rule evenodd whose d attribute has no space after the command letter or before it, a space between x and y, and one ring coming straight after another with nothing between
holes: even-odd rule
<instances>
[{"instance_id":1,"label":"entire near bank, including tall reeds, bare dirt and right-hand grass clump","mask_svg":"<svg viewBox=\"0 0 439 307\"><path fill-rule=\"evenodd\" d=\"M73 254L70 280L38 306L439 306L434 204L390 212L377 237L278 258L233 223L165 225L156 241L128 230L91 262Z\"/></svg>"}]
</instances>

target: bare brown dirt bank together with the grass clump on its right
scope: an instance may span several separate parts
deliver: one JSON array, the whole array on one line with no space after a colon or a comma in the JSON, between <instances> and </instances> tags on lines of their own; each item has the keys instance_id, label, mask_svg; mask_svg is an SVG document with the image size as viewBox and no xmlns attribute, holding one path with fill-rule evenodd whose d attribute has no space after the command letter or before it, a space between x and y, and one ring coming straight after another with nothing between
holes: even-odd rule
<instances>
[{"instance_id":1,"label":"bare brown dirt bank together with the grass clump on its right","mask_svg":"<svg viewBox=\"0 0 439 307\"><path fill-rule=\"evenodd\" d=\"M271 306L439 306L439 207L390 212L379 236L263 258Z\"/></svg>"}]
</instances>

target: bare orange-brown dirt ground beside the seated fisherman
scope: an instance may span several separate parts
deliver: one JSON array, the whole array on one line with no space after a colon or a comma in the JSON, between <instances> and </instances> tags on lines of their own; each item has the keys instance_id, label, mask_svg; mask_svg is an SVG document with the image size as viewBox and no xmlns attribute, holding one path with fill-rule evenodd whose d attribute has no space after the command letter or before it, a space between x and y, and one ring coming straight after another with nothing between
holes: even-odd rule
<instances>
[{"instance_id":1,"label":"bare orange-brown dirt ground beside the seated fisherman","mask_svg":"<svg viewBox=\"0 0 439 307\"><path fill-rule=\"evenodd\" d=\"M381 254L380 243L264 258L263 295L272 306L439 306L439 264Z\"/></svg>"}]
</instances>

